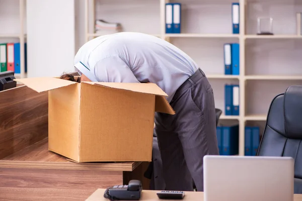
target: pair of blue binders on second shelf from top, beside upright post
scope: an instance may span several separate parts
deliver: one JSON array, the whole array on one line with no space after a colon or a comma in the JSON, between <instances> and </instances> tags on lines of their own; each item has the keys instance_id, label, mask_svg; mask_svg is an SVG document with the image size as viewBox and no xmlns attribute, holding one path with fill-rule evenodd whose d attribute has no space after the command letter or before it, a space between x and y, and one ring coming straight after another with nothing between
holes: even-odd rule
<instances>
[{"instance_id":1,"label":"pair of blue binders on second shelf from top, beside upright post","mask_svg":"<svg viewBox=\"0 0 302 201\"><path fill-rule=\"evenodd\" d=\"M240 59L239 59L239 44L226 43L224 44L224 74L239 75L240 74Z\"/></svg>"}]
</instances>

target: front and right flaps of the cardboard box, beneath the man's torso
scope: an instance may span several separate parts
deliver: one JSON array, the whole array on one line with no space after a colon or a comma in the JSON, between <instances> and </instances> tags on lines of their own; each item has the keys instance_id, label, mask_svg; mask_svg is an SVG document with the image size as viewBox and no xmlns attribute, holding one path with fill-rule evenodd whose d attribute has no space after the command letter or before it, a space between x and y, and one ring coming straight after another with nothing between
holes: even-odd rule
<instances>
[{"instance_id":1,"label":"front and right flaps of the cardboard box, beneath the man's torso","mask_svg":"<svg viewBox=\"0 0 302 201\"><path fill-rule=\"evenodd\" d=\"M124 89L140 93L149 93L156 95L155 102L155 112L166 113L174 115L175 111L170 106L168 100L165 96L168 96L165 91L163 91L155 83L121 83L121 82L82 82L92 85L105 86L110 88Z\"/></svg>"}]
</instances>

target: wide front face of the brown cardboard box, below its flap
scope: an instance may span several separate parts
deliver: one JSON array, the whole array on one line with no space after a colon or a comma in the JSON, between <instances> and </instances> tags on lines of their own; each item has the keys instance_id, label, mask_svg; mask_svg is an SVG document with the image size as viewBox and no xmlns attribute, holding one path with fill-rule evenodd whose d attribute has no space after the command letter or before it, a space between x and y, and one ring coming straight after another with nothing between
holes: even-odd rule
<instances>
[{"instance_id":1,"label":"wide front face of the brown cardboard box, below its flap","mask_svg":"<svg viewBox=\"0 0 302 201\"><path fill-rule=\"evenodd\" d=\"M155 95L82 82L80 161L150 161Z\"/></svg>"}]
</instances>

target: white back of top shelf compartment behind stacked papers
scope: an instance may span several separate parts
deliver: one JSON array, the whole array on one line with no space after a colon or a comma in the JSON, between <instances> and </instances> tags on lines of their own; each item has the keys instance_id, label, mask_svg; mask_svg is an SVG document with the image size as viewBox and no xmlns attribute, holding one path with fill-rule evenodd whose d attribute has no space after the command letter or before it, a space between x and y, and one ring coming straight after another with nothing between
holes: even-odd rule
<instances>
[{"instance_id":1,"label":"white back of top shelf compartment behind stacked papers","mask_svg":"<svg viewBox=\"0 0 302 201\"><path fill-rule=\"evenodd\" d=\"M161 1L157 0L99 0L95 1L95 19L120 23L124 32L161 33ZM118 5L118 6L116 6ZM90 33L94 32L94 21Z\"/></svg>"}]
</instances>

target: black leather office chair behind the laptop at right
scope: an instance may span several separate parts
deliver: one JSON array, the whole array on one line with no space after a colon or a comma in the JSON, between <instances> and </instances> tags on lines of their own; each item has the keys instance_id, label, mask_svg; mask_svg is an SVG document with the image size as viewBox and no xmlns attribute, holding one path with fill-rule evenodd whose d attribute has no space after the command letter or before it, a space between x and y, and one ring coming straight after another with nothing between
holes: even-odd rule
<instances>
[{"instance_id":1,"label":"black leather office chair behind the laptop at right","mask_svg":"<svg viewBox=\"0 0 302 201\"><path fill-rule=\"evenodd\" d=\"M294 193L302 193L302 86L289 86L269 107L257 156L294 159ZM278 168L278 167L276 167Z\"/></svg>"}]
</instances>

